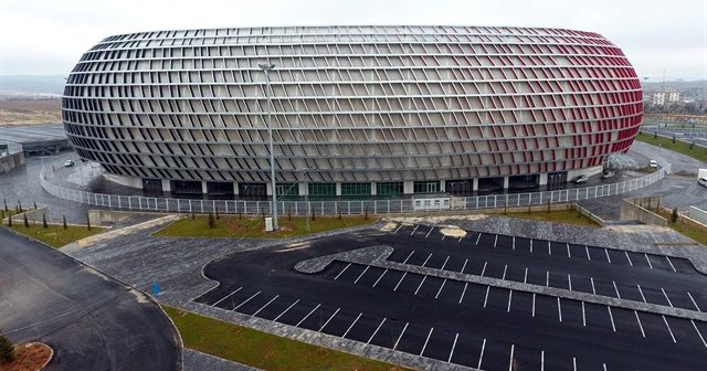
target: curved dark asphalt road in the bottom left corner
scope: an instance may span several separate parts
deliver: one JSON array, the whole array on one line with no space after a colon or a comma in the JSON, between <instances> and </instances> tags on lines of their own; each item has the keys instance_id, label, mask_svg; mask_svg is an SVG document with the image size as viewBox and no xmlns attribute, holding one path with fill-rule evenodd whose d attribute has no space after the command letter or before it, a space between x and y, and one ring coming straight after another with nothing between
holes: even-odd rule
<instances>
[{"instance_id":1,"label":"curved dark asphalt road in the bottom left corner","mask_svg":"<svg viewBox=\"0 0 707 371\"><path fill-rule=\"evenodd\" d=\"M159 307L64 254L0 227L0 329L54 349L48 370L180 370Z\"/></svg>"}]
</instances>

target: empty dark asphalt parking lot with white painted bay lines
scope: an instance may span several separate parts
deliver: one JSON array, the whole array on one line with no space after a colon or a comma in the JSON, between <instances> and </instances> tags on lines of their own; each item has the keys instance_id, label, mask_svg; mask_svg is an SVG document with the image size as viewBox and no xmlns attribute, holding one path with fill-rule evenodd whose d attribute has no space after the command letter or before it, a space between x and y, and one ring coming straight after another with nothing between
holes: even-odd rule
<instances>
[{"instance_id":1,"label":"empty dark asphalt parking lot with white painted bay lines","mask_svg":"<svg viewBox=\"0 0 707 371\"><path fill-rule=\"evenodd\" d=\"M483 370L689 370L707 357L707 322L699 320L376 264L294 269L374 245L392 246L388 259L400 267L707 308L707 278L685 259L476 232L449 237L431 225L232 255L205 267L221 285L197 301Z\"/></svg>"}]
</instances>

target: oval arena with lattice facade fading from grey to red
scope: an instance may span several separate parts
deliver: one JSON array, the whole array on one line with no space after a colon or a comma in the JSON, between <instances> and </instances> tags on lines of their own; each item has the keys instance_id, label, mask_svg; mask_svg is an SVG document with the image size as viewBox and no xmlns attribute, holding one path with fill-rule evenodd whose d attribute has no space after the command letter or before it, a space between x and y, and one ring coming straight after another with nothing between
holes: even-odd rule
<instances>
[{"instance_id":1,"label":"oval arena with lattice facade fading from grey to red","mask_svg":"<svg viewBox=\"0 0 707 371\"><path fill-rule=\"evenodd\" d=\"M266 92L291 195L562 183L626 151L643 115L635 71L593 32L292 26L109 36L68 76L63 121L109 180L262 197Z\"/></svg>"}]
</instances>

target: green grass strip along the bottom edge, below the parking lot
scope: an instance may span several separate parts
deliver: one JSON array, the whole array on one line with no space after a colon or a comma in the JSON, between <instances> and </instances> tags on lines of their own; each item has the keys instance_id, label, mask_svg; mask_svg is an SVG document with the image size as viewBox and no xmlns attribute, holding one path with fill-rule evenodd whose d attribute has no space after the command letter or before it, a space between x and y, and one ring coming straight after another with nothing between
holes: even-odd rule
<instances>
[{"instance_id":1,"label":"green grass strip along the bottom edge, below the parking lot","mask_svg":"<svg viewBox=\"0 0 707 371\"><path fill-rule=\"evenodd\" d=\"M184 347L263 370L407 370L162 306Z\"/></svg>"}]
</instances>

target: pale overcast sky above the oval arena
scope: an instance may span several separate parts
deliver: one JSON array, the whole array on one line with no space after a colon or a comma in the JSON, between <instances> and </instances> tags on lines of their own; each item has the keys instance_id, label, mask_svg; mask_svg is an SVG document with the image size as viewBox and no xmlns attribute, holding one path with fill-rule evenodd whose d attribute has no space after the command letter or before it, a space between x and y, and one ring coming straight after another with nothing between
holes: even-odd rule
<instances>
[{"instance_id":1,"label":"pale overcast sky above the oval arena","mask_svg":"<svg viewBox=\"0 0 707 371\"><path fill-rule=\"evenodd\" d=\"M331 24L594 31L623 49L641 77L707 80L707 0L0 0L0 74L68 74L118 33Z\"/></svg>"}]
</instances>

